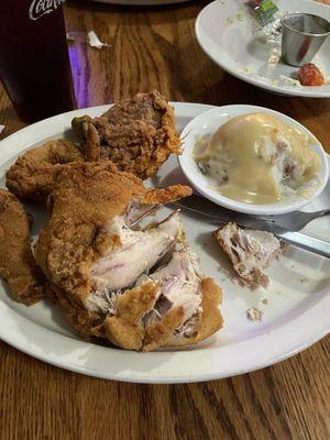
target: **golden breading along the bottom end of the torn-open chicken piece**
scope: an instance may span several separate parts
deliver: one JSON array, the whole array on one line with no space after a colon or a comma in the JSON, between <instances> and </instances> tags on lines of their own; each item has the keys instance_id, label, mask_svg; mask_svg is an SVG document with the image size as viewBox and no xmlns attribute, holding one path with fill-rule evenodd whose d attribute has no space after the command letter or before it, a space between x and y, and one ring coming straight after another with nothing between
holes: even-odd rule
<instances>
[{"instance_id":1,"label":"golden breading along the bottom end of the torn-open chicken piece","mask_svg":"<svg viewBox=\"0 0 330 440\"><path fill-rule=\"evenodd\" d=\"M106 319L108 339L116 345L130 350L152 351L160 346L184 346L197 344L222 328L219 310L222 292L212 278L201 282L202 312L191 337L175 336L183 324L184 309L170 309L164 317L145 327L142 318L154 307L157 284L145 283L124 292L118 299L116 316Z\"/></svg>"}]
</instances>

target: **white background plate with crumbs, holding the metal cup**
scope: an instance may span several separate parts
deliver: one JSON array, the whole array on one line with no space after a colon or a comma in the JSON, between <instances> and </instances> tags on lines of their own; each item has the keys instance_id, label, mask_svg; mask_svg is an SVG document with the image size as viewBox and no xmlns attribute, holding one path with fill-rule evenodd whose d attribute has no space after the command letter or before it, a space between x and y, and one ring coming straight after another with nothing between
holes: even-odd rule
<instances>
[{"instance_id":1,"label":"white background plate with crumbs, holding the metal cup","mask_svg":"<svg viewBox=\"0 0 330 440\"><path fill-rule=\"evenodd\" d=\"M278 0L283 12L306 12L330 21L330 7L309 0ZM252 35L237 0L217 0L208 4L196 21L196 35L201 48L231 75L266 90L309 98L330 97L330 37L316 55L314 63L323 73L328 85L302 87L290 84L298 67L280 62L280 42L264 44Z\"/></svg>"}]
</instances>

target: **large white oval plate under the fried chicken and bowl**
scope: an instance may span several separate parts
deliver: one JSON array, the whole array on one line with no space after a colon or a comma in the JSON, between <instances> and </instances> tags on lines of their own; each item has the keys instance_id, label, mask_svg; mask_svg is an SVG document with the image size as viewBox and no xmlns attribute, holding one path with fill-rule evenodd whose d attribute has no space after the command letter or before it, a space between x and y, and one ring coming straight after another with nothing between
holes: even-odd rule
<instances>
[{"instance_id":1,"label":"large white oval plate under the fried chicken and bowl","mask_svg":"<svg viewBox=\"0 0 330 440\"><path fill-rule=\"evenodd\" d=\"M50 139L68 132L76 116L99 116L108 106L61 114L23 129L0 145L0 175L16 156ZM175 103L179 129L209 106ZM153 184L185 182L176 157L160 170ZM330 186L306 209L330 206ZM35 227L44 215L34 209ZM164 208L164 211L168 209ZM187 239L201 258L201 270L223 287L222 314L226 327L204 343L185 350L135 353L86 342L65 322L59 309L47 301L32 307L20 305L0 284L0 338L16 349L51 364L117 381L140 383L184 383L228 377L262 369L306 349L329 332L330 260L294 248L267 271L268 290L251 293L232 283L227 258L211 239L213 227L183 212ZM308 233L329 239L329 218L310 224ZM35 232L35 230L34 230ZM268 305L262 302L268 299ZM255 306L264 311L260 322L245 312Z\"/></svg>"}]
</instances>

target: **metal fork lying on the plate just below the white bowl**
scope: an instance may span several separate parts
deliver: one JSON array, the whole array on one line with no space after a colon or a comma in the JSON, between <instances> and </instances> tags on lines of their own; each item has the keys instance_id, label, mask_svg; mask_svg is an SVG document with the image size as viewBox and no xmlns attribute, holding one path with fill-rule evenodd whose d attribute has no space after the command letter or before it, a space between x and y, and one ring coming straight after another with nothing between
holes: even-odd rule
<instances>
[{"instance_id":1,"label":"metal fork lying on the plate just below the white bowl","mask_svg":"<svg viewBox=\"0 0 330 440\"><path fill-rule=\"evenodd\" d=\"M209 221L216 223L235 221L239 224L249 223L250 228L257 229L260 222L265 222L285 228L289 231L300 231L310 221L330 215L330 209L322 209L315 212L294 211L277 216L251 216L222 208L197 195L193 195L187 199L176 201L172 205L188 212L208 218Z\"/></svg>"}]
</instances>

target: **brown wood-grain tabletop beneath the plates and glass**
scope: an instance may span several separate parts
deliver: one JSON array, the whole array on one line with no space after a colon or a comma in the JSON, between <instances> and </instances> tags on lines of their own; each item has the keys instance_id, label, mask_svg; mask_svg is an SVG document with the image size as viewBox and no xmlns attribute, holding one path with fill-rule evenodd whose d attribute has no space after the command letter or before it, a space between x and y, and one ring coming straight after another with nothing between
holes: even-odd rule
<instances>
[{"instance_id":1,"label":"brown wood-grain tabletop beneath the plates and glass","mask_svg":"<svg viewBox=\"0 0 330 440\"><path fill-rule=\"evenodd\" d=\"M328 0L327 0L328 1ZM158 88L169 99L251 103L310 129L330 152L330 100L270 95L223 73L199 48L196 15L206 1L165 8L66 6L69 31L95 30L110 47L75 43L79 107ZM0 89L3 135L20 122ZM298 329L297 329L298 331ZM330 338L272 367L210 383L134 385L85 377L0 342L0 439L330 438Z\"/></svg>"}]
</instances>

